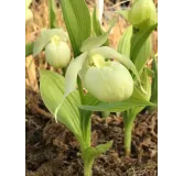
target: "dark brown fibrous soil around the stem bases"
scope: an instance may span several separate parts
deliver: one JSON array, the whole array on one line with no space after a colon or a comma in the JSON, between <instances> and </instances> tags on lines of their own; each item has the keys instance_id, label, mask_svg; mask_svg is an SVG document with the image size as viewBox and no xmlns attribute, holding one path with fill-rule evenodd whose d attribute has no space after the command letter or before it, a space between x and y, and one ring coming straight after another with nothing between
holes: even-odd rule
<instances>
[{"instance_id":1,"label":"dark brown fibrous soil around the stem bases","mask_svg":"<svg viewBox=\"0 0 183 176\"><path fill-rule=\"evenodd\" d=\"M94 176L158 175L158 112L143 112L134 122L132 151L125 157L123 122L110 114L93 114L93 146L114 140L112 147L94 163ZM26 176L83 176L78 142L63 124L57 124L37 92L26 89Z\"/></svg>"}]
</instances>

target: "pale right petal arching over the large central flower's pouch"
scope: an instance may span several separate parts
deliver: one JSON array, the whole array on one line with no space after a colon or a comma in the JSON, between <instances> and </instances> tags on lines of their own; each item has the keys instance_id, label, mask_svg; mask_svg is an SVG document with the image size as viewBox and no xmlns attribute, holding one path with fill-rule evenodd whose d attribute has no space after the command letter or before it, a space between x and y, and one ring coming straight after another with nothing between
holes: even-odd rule
<instances>
[{"instance_id":1,"label":"pale right petal arching over the large central flower's pouch","mask_svg":"<svg viewBox=\"0 0 183 176\"><path fill-rule=\"evenodd\" d=\"M108 47L108 46L101 46L101 47L98 47L98 48L94 48L93 51L90 51L90 54L100 54L106 58L118 59L127 68L129 68L133 72L133 74L136 75L138 81L140 82L140 77L139 77L139 74L136 69L136 66L133 65L133 63L127 56L121 55L120 53L116 52L115 50L112 50L111 47Z\"/></svg>"}]
</instances>

